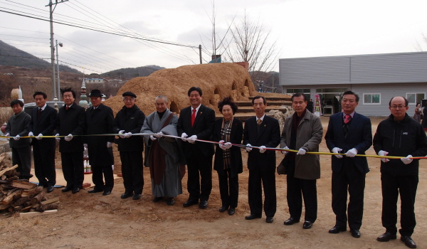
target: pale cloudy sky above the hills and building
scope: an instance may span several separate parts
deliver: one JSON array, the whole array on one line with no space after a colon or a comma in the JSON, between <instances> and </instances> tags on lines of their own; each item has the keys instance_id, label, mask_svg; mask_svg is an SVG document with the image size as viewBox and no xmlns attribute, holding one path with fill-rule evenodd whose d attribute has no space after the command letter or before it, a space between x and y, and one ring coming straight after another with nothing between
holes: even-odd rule
<instances>
[{"instance_id":1,"label":"pale cloudy sky above the hills and building","mask_svg":"<svg viewBox=\"0 0 427 249\"><path fill-rule=\"evenodd\" d=\"M53 0L55 1L55 0ZM0 40L50 58L48 0L0 0ZM126 33L197 47L204 63L211 51L211 0L69 0L58 4L58 22L112 33ZM234 18L259 21L276 41L277 58L427 51L425 0L216 0L216 31L226 33ZM85 73L160 65L176 68L199 63L199 49L136 40L54 23L63 43L59 60ZM1 52L3 53L3 52ZM219 51L221 53L221 51ZM48 60L50 61L50 60ZM278 59L273 70L278 71Z\"/></svg>"}]
</instances>

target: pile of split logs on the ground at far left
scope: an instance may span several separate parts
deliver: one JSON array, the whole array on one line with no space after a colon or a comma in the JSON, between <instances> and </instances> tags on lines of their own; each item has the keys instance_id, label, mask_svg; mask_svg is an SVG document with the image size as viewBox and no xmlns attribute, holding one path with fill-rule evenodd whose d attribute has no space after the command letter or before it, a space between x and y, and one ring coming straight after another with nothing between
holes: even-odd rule
<instances>
[{"instance_id":1,"label":"pile of split logs on the ground at far left","mask_svg":"<svg viewBox=\"0 0 427 249\"><path fill-rule=\"evenodd\" d=\"M59 198L48 200L43 186L19 179L18 165L4 167L7 157L7 154L0 155L0 211L24 213L57 209Z\"/></svg>"}]
</instances>

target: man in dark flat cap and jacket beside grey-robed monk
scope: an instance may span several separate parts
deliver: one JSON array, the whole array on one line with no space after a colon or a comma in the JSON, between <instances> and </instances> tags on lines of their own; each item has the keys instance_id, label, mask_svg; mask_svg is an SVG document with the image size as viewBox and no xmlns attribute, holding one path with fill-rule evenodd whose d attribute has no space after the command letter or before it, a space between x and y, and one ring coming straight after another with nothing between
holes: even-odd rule
<instances>
[{"instance_id":1,"label":"man in dark flat cap and jacket beside grey-robed monk","mask_svg":"<svg viewBox=\"0 0 427 249\"><path fill-rule=\"evenodd\" d=\"M134 200L139 200L144 186L142 177L144 142L141 136L132 136L132 134L141 130L145 115L135 105L137 95L133 92L125 92L122 97L125 105L122 110L117 112L114 120L114 133L120 134L116 141L119 146L123 184L125 185L125 193L121 198L133 196Z\"/></svg>"}]
</instances>

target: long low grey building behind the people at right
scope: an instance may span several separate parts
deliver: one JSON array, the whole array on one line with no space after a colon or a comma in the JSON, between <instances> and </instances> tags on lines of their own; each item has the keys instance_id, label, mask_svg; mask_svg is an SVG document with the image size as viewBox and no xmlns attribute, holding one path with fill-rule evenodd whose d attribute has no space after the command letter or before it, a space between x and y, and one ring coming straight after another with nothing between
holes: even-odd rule
<instances>
[{"instance_id":1,"label":"long low grey building behind the people at right","mask_svg":"<svg viewBox=\"0 0 427 249\"><path fill-rule=\"evenodd\" d=\"M426 99L427 52L280 59L279 71L283 93L333 103L352 90L360 97L357 112L367 116L388 116L397 95L408 99L413 116L416 102Z\"/></svg>"}]
</instances>

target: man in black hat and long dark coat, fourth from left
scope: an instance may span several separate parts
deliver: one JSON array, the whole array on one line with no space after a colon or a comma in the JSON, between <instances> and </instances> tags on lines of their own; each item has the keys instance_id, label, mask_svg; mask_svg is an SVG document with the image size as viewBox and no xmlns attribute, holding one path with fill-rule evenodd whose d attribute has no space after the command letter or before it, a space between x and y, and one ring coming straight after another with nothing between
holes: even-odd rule
<instances>
[{"instance_id":1,"label":"man in black hat and long dark coat, fourth from left","mask_svg":"<svg viewBox=\"0 0 427 249\"><path fill-rule=\"evenodd\" d=\"M92 107L86 110L85 134L111 134L113 133L114 116L110 107L101 103L101 91L92 90L90 92L90 102ZM88 136L85 137L85 146L88 147L89 163L92 169L92 181L95 187L88 191L93 194L102 192L103 196L111 194L114 186L114 177L112 175L112 142L114 136ZM102 180L104 174L105 184Z\"/></svg>"}]
</instances>

